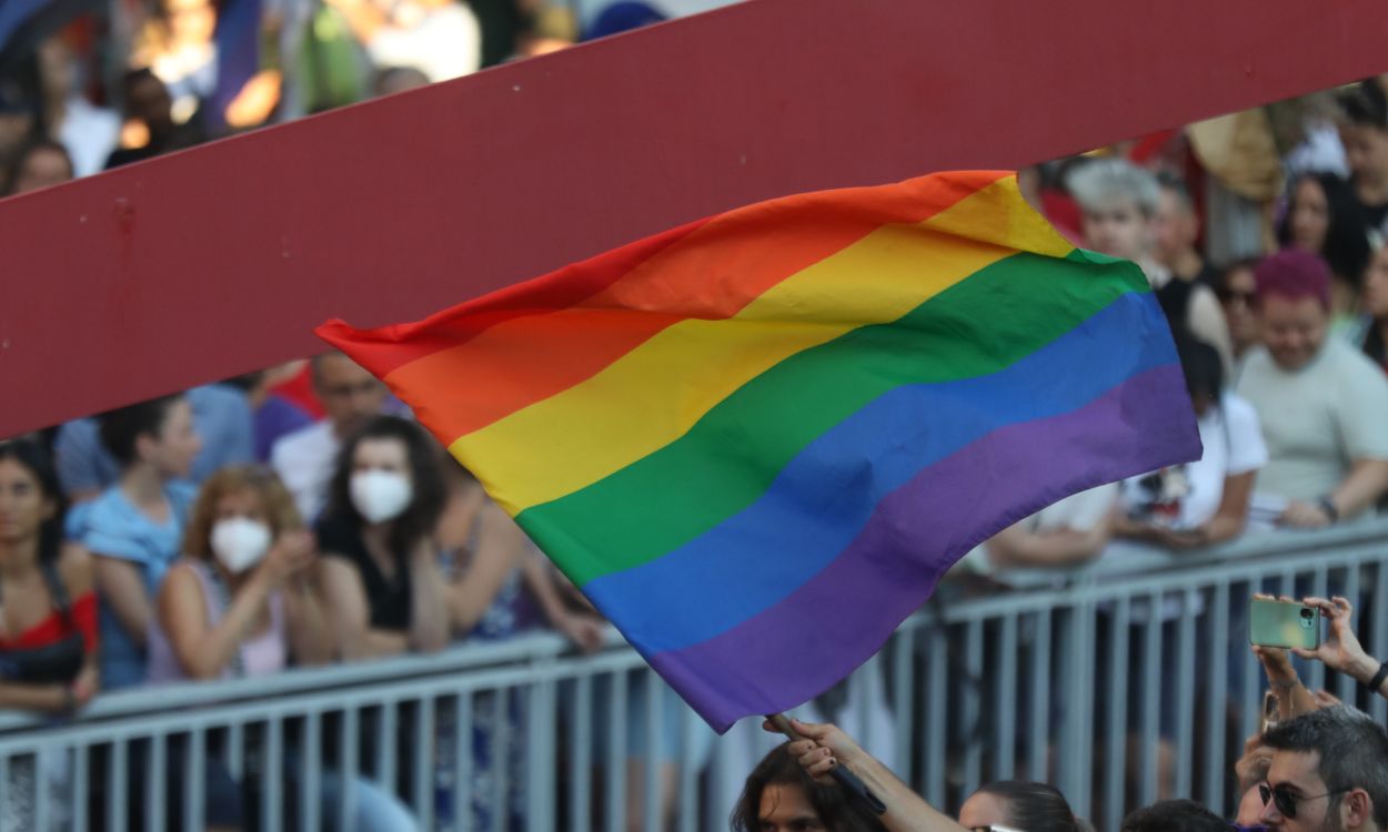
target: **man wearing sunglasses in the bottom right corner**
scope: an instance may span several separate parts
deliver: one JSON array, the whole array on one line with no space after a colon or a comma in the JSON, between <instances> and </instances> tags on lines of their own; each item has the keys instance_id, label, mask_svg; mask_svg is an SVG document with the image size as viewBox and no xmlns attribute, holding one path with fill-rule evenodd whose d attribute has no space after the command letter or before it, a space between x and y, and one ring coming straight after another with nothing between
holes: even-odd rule
<instances>
[{"instance_id":1,"label":"man wearing sunglasses in the bottom right corner","mask_svg":"<svg viewBox=\"0 0 1388 832\"><path fill-rule=\"evenodd\" d=\"M1388 829L1388 732L1367 714L1327 707L1263 736L1273 749L1260 821L1291 832Z\"/></svg>"}]
</instances>

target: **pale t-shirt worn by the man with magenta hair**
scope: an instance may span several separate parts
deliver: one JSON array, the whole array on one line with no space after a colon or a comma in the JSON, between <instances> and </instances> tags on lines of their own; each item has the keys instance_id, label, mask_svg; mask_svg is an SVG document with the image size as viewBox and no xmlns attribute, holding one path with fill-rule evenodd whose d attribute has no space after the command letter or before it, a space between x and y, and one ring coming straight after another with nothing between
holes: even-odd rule
<instances>
[{"instance_id":1,"label":"pale t-shirt worn by the man with magenta hair","mask_svg":"<svg viewBox=\"0 0 1388 832\"><path fill-rule=\"evenodd\" d=\"M1267 467L1258 491L1314 502L1339 487L1360 459L1388 459L1388 377L1339 338L1296 372L1267 349L1248 355L1238 394L1258 409Z\"/></svg>"}]
</instances>

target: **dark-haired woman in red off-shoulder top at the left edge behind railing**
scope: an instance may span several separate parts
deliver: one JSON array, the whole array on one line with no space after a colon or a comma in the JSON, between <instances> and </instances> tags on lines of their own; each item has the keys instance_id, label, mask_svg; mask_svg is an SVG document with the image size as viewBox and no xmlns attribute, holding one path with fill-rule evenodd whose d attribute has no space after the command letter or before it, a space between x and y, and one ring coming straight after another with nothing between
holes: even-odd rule
<instances>
[{"instance_id":1,"label":"dark-haired woman in red off-shoulder top at the left edge behind railing","mask_svg":"<svg viewBox=\"0 0 1388 832\"><path fill-rule=\"evenodd\" d=\"M0 442L0 709L67 714L97 691L96 593L86 551L62 542L62 496L43 451ZM35 828L33 800L67 803L44 753L12 759L0 828ZM42 783L42 785L40 785Z\"/></svg>"}]
</instances>

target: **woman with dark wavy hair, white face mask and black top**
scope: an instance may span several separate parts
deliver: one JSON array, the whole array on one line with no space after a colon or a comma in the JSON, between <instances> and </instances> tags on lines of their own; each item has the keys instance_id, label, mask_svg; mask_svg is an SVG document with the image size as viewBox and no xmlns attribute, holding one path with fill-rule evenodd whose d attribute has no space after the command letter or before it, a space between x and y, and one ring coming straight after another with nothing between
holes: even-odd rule
<instances>
[{"instance_id":1,"label":"woman with dark wavy hair, white face mask and black top","mask_svg":"<svg viewBox=\"0 0 1388 832\"><path fill-rule=\"evenodd\" d=\"M376 416L343 447L316 528L343 659L448 643L434 539L444 495L436 445L412 422Z\"/></svg>"}]
</instances>

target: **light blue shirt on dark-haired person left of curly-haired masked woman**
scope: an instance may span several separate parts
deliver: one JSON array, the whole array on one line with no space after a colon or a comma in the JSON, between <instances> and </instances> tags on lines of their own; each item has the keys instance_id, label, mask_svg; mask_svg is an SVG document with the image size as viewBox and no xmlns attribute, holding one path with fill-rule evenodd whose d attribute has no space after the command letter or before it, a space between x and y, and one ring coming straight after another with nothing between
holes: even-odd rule
<instances>
[{"instance_id":1,"label":"light blue shirt on dark-haired person left of curly-haired masked woman","mask_svg":"<svg viewBox=\"0 0 1388 832\"><path fill-rule=\"evenodd\" d=\"M128 560L140 570L144 592L154 605L164 573L183 545L183 527L197 491L186 483L169 483L164 494L172 509L165 523L154 523L126 499L119 487L78 506L68 516L68 537L93 555ZM144 682L144 652L126 634L104 596L97 598L97 630L101 636L101 688L114 691Z\"/></svg>"}]
</instances>

